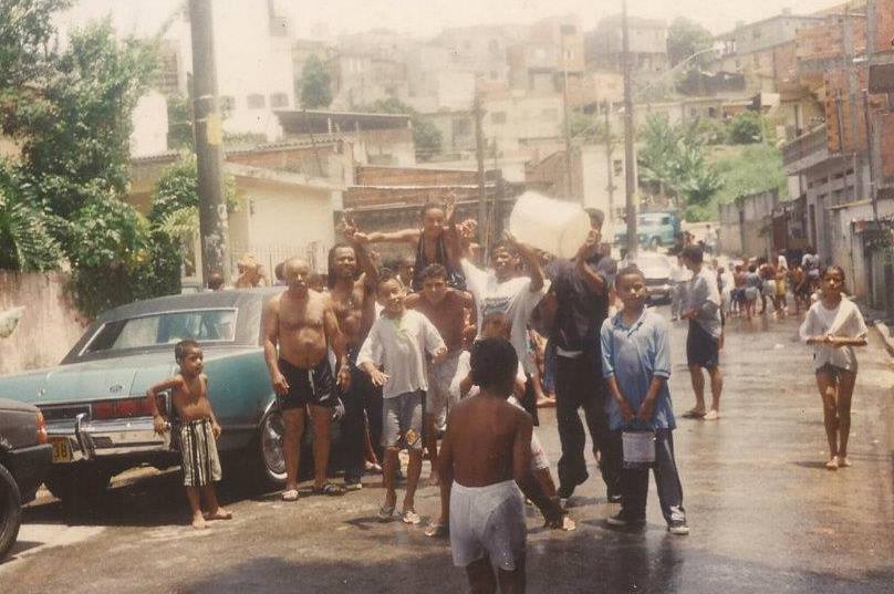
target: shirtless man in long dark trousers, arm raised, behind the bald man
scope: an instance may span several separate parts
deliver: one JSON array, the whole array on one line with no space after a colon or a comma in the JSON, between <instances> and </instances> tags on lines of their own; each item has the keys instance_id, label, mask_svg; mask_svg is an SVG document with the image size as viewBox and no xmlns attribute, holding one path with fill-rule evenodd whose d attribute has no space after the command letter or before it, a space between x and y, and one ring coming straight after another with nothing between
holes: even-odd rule
<instances>
[{"instance_id":1,"label":"shirtless man in long dark trousers, arm raised, behind the bald man","mask_svg":"<svg viewBox=\"0 0 894 594\"><path fill-rule=\"evenodd\" d=\"M357 241L350 216L342 221L345 243L329 252L329 300L345 341L351 373L351 389L342 394L342 444L344 482L349 490L361 489L365 461L366 421L370 419L373 449L381 442L382 389L355 365L366 334L375 321L375 281L378 270L365 246ZM380 457L381 459L381 457Z\"/></svg>"}]
</instances>

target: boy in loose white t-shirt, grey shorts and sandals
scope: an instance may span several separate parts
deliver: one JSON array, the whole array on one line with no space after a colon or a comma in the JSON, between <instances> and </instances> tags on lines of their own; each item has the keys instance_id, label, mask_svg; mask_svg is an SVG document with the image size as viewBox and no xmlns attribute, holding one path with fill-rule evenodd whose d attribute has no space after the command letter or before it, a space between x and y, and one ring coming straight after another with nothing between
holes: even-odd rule
<instances>
[{"instance_id":1,"label":"boy in loose white t-shirt, grey shorts and sandals","mask_svg":"<svg viewBox=\"0 0 894 594\"><path fill-rule=\"evenodd\" d=\"M397 277L383 272L376 294L384 310L360 350L357 366L370 374L373 384L384 387L382 446L385 448L386 493L378 518L387 521L394 517L397 504L394 478L403 446L409 450L409 466L401 519L418 524L422 519L415 510L415 496L423 469L423 402L428 389L426 357L432 355L435 363L440 363L447 347L426 316L406 309L406 289Z\"/></svg>"}]
</instances>

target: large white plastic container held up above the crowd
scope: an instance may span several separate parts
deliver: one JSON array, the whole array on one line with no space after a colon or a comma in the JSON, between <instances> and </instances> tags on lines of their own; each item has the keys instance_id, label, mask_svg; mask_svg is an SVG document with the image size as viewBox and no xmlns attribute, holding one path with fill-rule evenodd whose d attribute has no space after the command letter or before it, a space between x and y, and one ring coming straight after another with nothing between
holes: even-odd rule
<instances>
[{"instance_id":1,"label":"large white plastic container held up above the crowd","mask_svg":"<svg viewBox=\"0 0 894 594\"><path fill-rule=\"evenodd\" d=\"M509 231L522 243L574 258L590 235L590 216L579 204L526 191L509 215Z\"/></svg>"}]
</instances>

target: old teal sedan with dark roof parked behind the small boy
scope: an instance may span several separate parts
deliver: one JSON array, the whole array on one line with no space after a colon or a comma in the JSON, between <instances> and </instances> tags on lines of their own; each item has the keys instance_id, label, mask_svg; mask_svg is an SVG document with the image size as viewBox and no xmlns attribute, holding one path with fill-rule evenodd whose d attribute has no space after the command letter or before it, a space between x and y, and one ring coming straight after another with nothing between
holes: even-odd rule
<instances>
[{"instance_id":1,"label":"old teal sedan with dark roof parked behind the small boy","mask_svg":"<svg viewBox=\"0 0 894 594\"><path fill-rule=\"evenodd\" d=\"M281 483L282 418L261 333L263 304L277 291L191 293L122 305L91 324L59 366L0 377L0 394L37 405L46 419L50 491L62 500L90 498L128 468L179 463L153 430L145 394L177 372L174 344L187 337L205 351L225 463L247 455L261 479ZM158 404L167 410L168 400L166 395Z\"/></svg>"}]
</instances>

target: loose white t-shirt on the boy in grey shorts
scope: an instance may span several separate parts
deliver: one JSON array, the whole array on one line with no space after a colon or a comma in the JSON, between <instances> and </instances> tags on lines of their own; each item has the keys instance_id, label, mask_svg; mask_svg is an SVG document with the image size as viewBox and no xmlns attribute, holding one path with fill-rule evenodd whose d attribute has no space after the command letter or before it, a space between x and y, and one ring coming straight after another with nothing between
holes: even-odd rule
<instances>
[{"instance_id":1,"label":"loose white t-shirt on the boy in grey shorts","mask_svg":"<svg viewBox=\"0 0 894 594\"><path fill-rule=\"evenodd\" d=\"M437 329L425 315L413 310L395 319L383 315L376 319L363 342L357 366L372 363L376 367L384 367L388 381L383 388L383 397L394 398L408 392L428 389L426 353L434 354L444 346Z\"/></svg>"}]
</instances>

